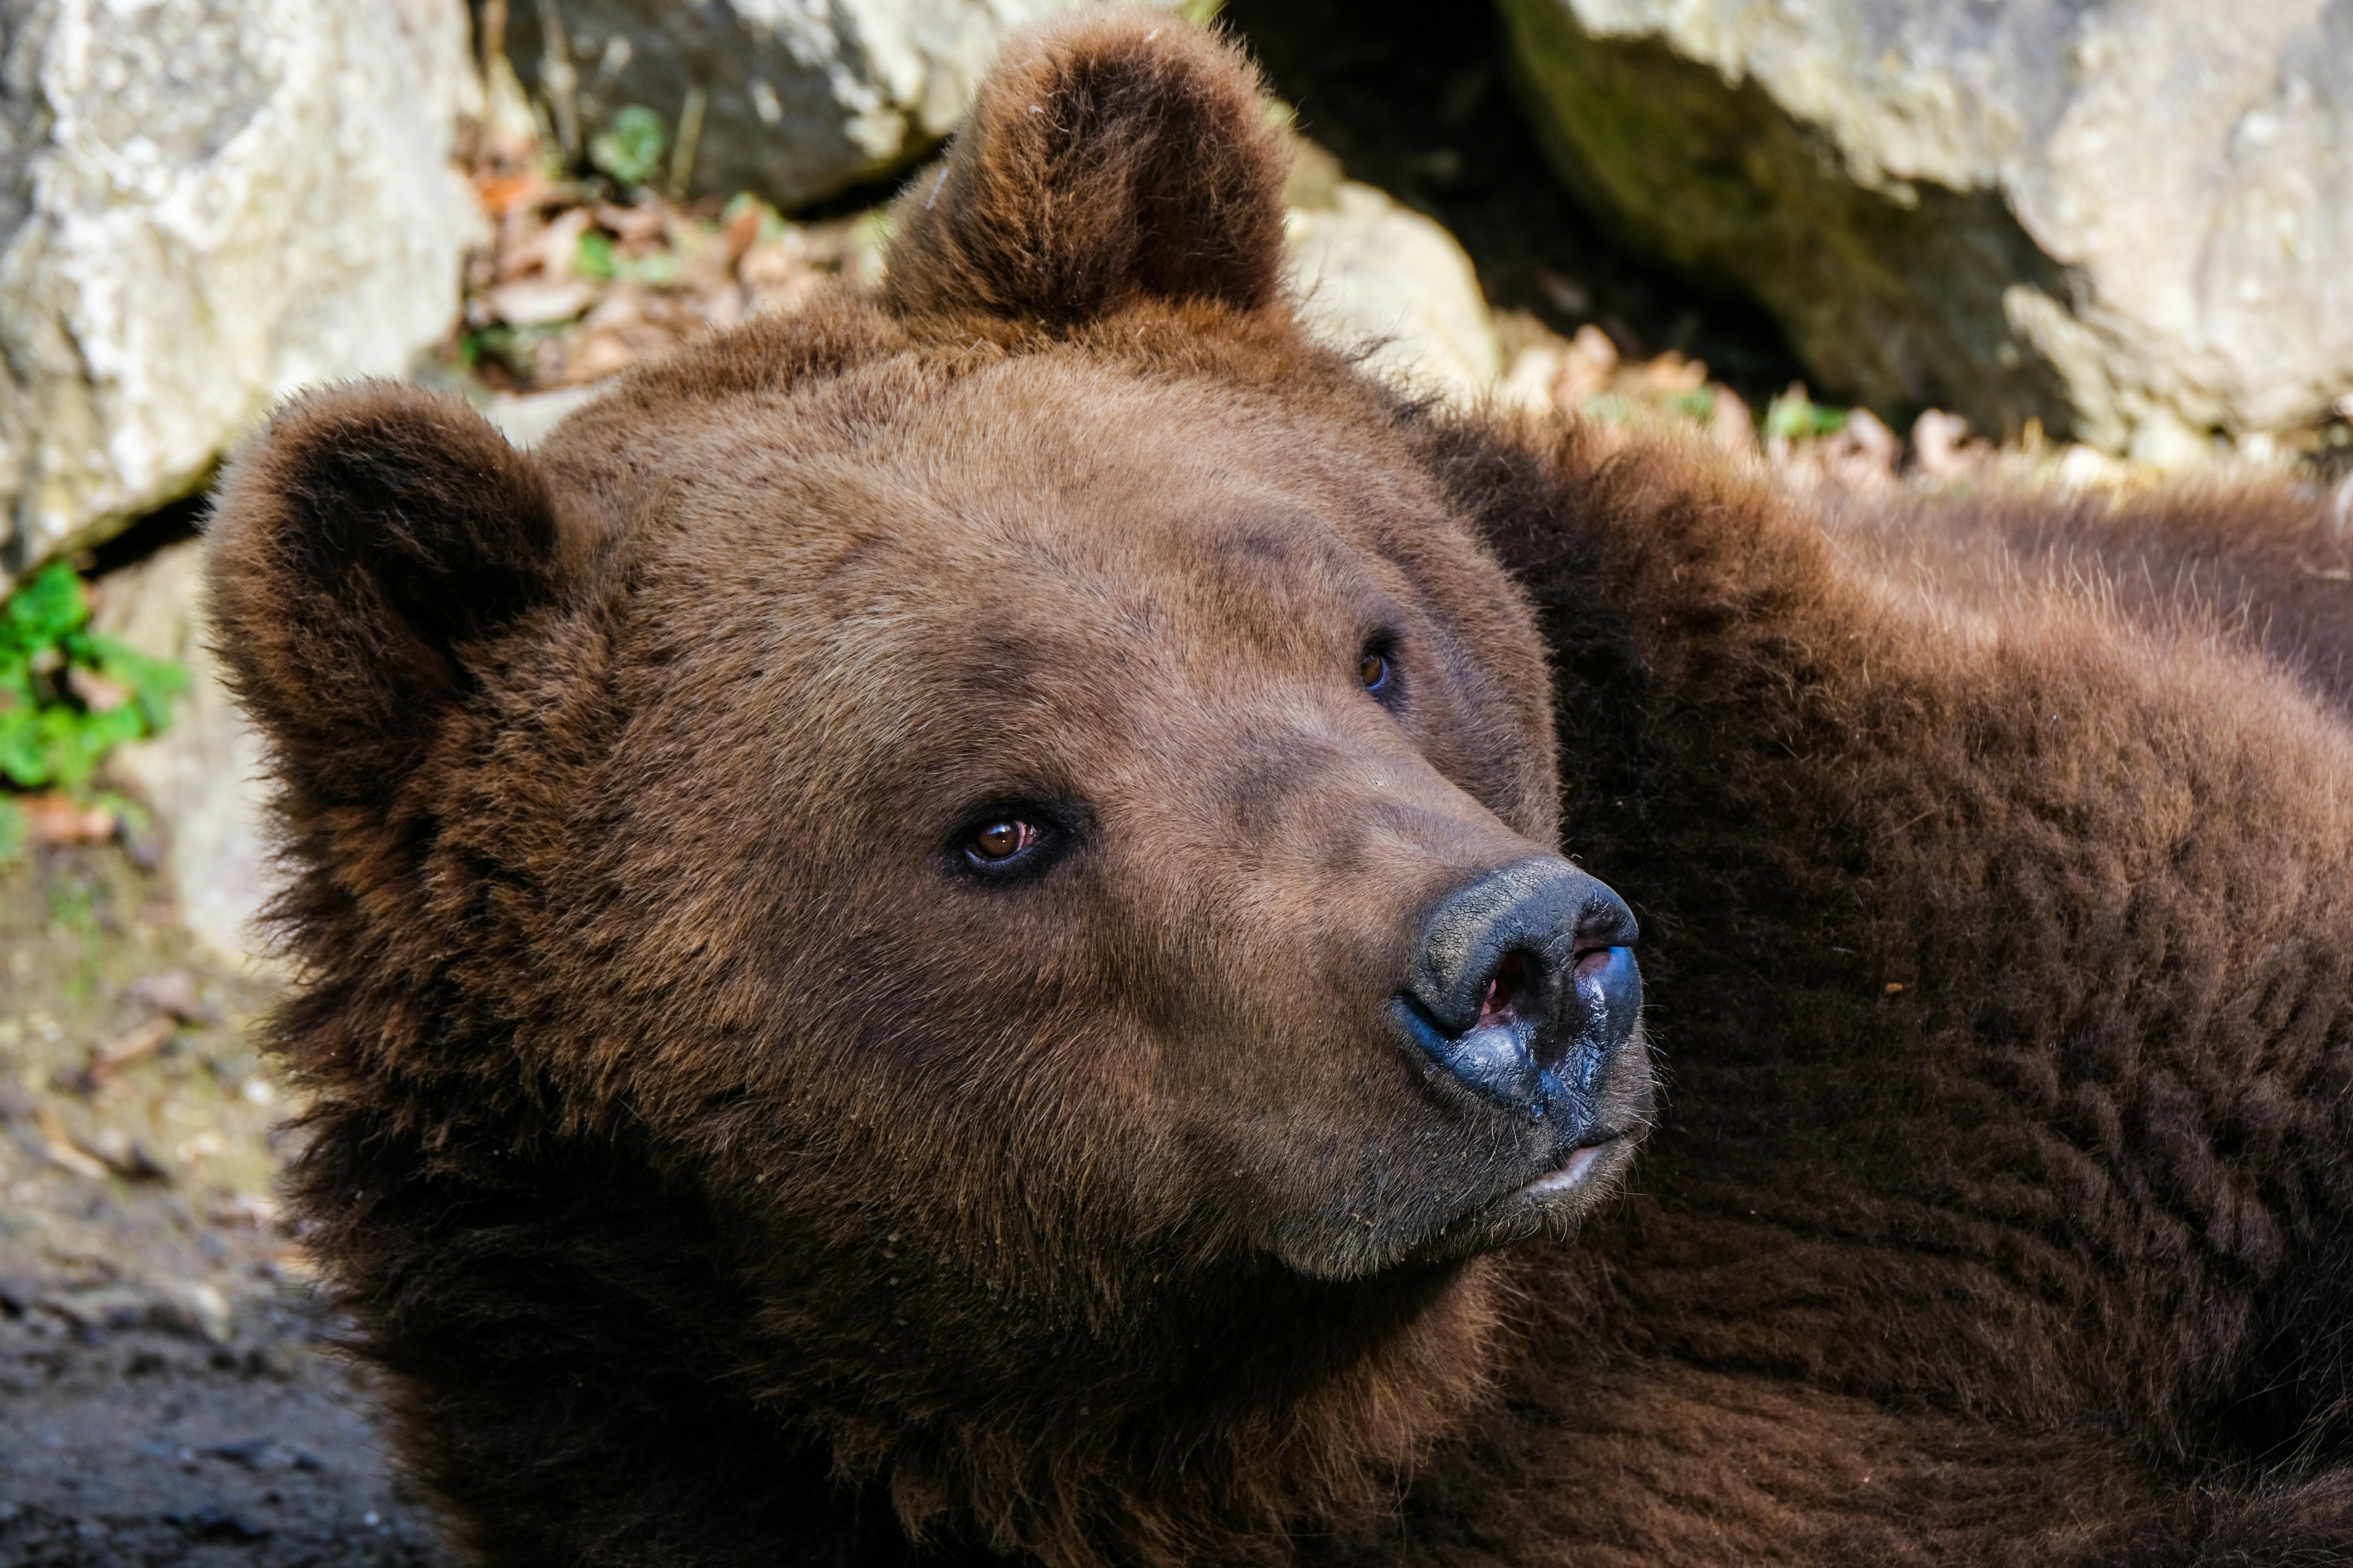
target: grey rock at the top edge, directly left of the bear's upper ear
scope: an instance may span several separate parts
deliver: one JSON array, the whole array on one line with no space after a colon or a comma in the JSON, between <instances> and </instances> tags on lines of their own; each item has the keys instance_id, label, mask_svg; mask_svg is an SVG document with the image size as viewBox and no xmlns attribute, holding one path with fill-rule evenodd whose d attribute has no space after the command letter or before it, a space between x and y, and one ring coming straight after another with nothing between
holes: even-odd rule
<instances>
[{"instance_id":1,"label":"grey rock at the top edge, directly left of the bear's upper ear","mask_svg":"<svg viewBox=\"0 0 2353 1568\"><path fill-rule=\"evenodd\" d=\"M506 0L506 54L565 153L642 103L668 139L656 179L793 209L939 146L1009 33L1087 2Z\"/></svg>"}]
</instances>

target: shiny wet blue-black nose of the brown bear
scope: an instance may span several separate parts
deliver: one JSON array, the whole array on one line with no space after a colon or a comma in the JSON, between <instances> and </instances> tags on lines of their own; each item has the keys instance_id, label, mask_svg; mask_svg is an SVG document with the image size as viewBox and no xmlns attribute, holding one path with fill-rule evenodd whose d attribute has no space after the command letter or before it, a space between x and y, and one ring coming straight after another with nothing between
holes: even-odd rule
<instances>
[{"instance_id":1,"label":"shiny wet blue-black nose of the brown bear","mask_svg":"<svg viewBox=\"0 0 2353 1568\"><path fill-rule=\"evenodd\" d=\"M1534 1117L1591 1105L1642 1011L1633 940L1633 910L1607 886L1555 856L1520 860L1438 905L1395 1011L1489 1100Z\"/></svg>"}]
</instances>

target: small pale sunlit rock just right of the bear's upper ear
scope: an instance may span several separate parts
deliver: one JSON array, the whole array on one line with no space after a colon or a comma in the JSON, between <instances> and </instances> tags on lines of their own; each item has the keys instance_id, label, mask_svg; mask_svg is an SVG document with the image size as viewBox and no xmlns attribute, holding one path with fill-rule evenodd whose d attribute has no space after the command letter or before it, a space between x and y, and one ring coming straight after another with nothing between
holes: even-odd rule
<instances>
[{"instance_id":1,"label":"small pale sunlit rock just right of the bear's upper ear","mask_svg":"<svg viewBox=\"0 0 2353 1568\"><path fill-rule=\"evenodd\" d=\"M1471 256L1372 186L1289 214L1289 284L1308 329L1409 390L1468 402L1504 371Z\"/></svg>"}]
</instances>

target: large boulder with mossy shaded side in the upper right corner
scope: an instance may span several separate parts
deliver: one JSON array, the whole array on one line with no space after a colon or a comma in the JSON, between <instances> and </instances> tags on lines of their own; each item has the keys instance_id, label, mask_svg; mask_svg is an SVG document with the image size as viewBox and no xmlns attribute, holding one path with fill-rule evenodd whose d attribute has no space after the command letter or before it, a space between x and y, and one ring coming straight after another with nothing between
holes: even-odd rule
<instances>
[{"instance_id":1,"label":"large boulder with mossy shaded side in the upper right corner","mask_svg":"<svg viewBox=\"0 0 2353 1568\"><path fill-rule=\"evenodd\" d=\"M2353 388L2344 0L1504 0L1539 132L1814 378L2191 463Z\"/></svg>"}]
</instances>

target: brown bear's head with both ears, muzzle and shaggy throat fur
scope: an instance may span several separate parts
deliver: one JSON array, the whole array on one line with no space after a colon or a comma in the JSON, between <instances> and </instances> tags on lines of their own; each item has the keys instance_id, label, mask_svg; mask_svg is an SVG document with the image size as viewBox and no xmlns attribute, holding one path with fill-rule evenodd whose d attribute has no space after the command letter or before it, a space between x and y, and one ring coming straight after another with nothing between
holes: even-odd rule
<instances>
[{"instance_id":1,"label":"brown bear's head with both ears, muzzle and shaggy throat fur","mask_svg":"<svg viewBox=\"0 0 2353 1568\"><path fill-rule=\"evenodd\" d=\"M1094 14L991 78L878 296L534 454L355 386L238 458L299 1204L412 1448L416 1347L487 1321L438 1305L487 1291L468 1204L591 1295L696 1251L715 1375L1059 1561L1315 1514L1478 1396L1492 1255L1649 1114L1633 919L1555 853L1445 416L1292 317L1282 179L1233 52ZM600 1192L668 1208L591 1244Z\"/></svg>"}]
</instances>

